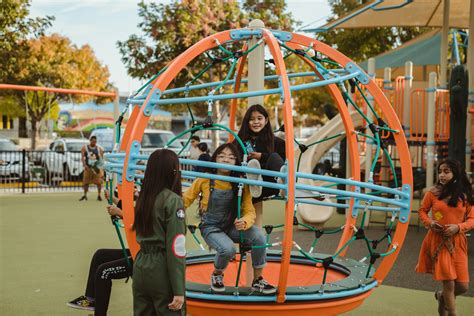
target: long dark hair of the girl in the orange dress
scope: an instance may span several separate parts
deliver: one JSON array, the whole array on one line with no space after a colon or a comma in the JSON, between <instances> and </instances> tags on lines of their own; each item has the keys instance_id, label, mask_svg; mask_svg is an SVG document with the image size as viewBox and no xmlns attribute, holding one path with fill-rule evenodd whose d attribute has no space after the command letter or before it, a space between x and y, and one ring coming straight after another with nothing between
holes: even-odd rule
<instances>
[{"instance_id":1,"label":"long dark hair of the girl in the orange dress","mask_svg":"<svg viewBox=\"0 0 474 316\"><path fill-rule=\"evenodd\" d=\"M451 207L456 207L459 201L472 205L472 186L459 161L449 158L441 161L438 165L438 173L442 165L446 165L451 170L453 178L445 185L438 180L436 184L438 200L448 199L448 205Z\"/></svg>"}]
</instances>

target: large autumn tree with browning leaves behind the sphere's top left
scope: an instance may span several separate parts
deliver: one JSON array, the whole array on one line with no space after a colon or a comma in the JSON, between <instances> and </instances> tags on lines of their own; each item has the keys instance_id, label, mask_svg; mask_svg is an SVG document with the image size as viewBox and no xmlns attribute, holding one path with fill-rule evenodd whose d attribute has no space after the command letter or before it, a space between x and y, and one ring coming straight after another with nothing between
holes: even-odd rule
<instances>
[{"instance_id":1,"label":"large autumn tree with browning leaves behind the sphere's top left","mask_svg":"<svg viewBox=\"0 0 474 316\"><path fill-rule=\"evenodd\" d=\"M118 42L118 47L128 73L140 79L151 78L199 40L216 32L246 27L252 19L261 19L266 27L273 29L292 30L297 25L292 15L286 12L286 3L282 0L247 0L242 7L237 1L221 0L184 0L159 5L142 1L139 4L139 16L143 20L139 24L143 35L131 35L128 40ZM236 52L241 46L235 45L230 49ZM189 82L223 80L229 72L230 61L216 62L222 57L225 54L217 49L207 56L198 57L178 74L171 85L183 87ZM209 64L212 67L196 79ZM224 92L230 92L230 89L229 86L223 88ZM190 93L190 96L193 95L197 95L197 92ZM205 94L201 92L201 95ZM206 114L206 104L192 104L190 107L199 116ZM174 113L186 111L186 105L164 108ZM219 122L228 108L229 101L214 102L214 121Z\"/></svg>"}]
</instances>

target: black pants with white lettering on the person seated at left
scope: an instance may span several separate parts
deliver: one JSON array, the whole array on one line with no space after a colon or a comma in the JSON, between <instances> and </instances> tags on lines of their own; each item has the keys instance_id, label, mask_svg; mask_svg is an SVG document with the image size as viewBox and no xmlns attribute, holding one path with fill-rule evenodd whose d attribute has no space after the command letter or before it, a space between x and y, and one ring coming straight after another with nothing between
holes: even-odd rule
<instances>
[{"instance_id":1,"label":"black pants with white lettering on the person seated at left","mask_svg":"<svg viewBox=\"0 0 474 316\"><path fill-rule=\"evenodd\" d=\"M127 253L130 263L133 264L128 249ZM128 278L132 272L122 249L99 249L94 253L85 295L95 299L95 316L107 315L112 280Z\"/></svg>"}]
</instances>

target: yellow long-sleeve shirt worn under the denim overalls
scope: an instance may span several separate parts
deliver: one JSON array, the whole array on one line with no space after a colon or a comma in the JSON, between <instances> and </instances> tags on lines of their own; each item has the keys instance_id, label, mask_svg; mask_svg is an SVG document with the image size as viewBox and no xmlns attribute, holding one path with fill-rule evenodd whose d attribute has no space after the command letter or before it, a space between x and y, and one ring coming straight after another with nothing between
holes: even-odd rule
<instances>
[{"instance_id":1,"label":"yellow long-sleeve shirt worn under the denim overalls","mask_svg":"<svg viewBox=\"0 0 474 316\"><path fill-rule=\"evenodd\" d=\"M214 180L214 189L217 190L232 190L232 184L226 181ZM184 207L188 208L194 200L202 193L201 208L203 211L207 211L207 205L209 203L210 193L210 180L197 178L194 180L191 187L186 190L183 194ZM242 193L242 204L241 204L241 219L246 223L245 229L249 229L255 223L255 208L252 204L252 196L248 186L244 186Z\"/></svg>"}]
</instances>

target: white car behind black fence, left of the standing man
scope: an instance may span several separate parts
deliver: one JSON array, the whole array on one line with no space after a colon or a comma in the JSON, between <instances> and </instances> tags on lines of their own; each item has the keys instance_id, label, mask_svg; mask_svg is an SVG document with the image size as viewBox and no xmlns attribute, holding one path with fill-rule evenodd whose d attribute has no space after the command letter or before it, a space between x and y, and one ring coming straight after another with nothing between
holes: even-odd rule
<instances>
[{"instance_id":1,"label":"white car behind black fence, left of the standing man","mask_svg":"<svg viewBox=\"0 0 474 316\"><path fill-rule=\"evenodd\" d=\"M61 138L52 142L42 157L46 182L51 182L54 177L61 180L80 179L84 171L81 149L87 144L88 140L75 138Z\"/></svg>"}]
</instances>

